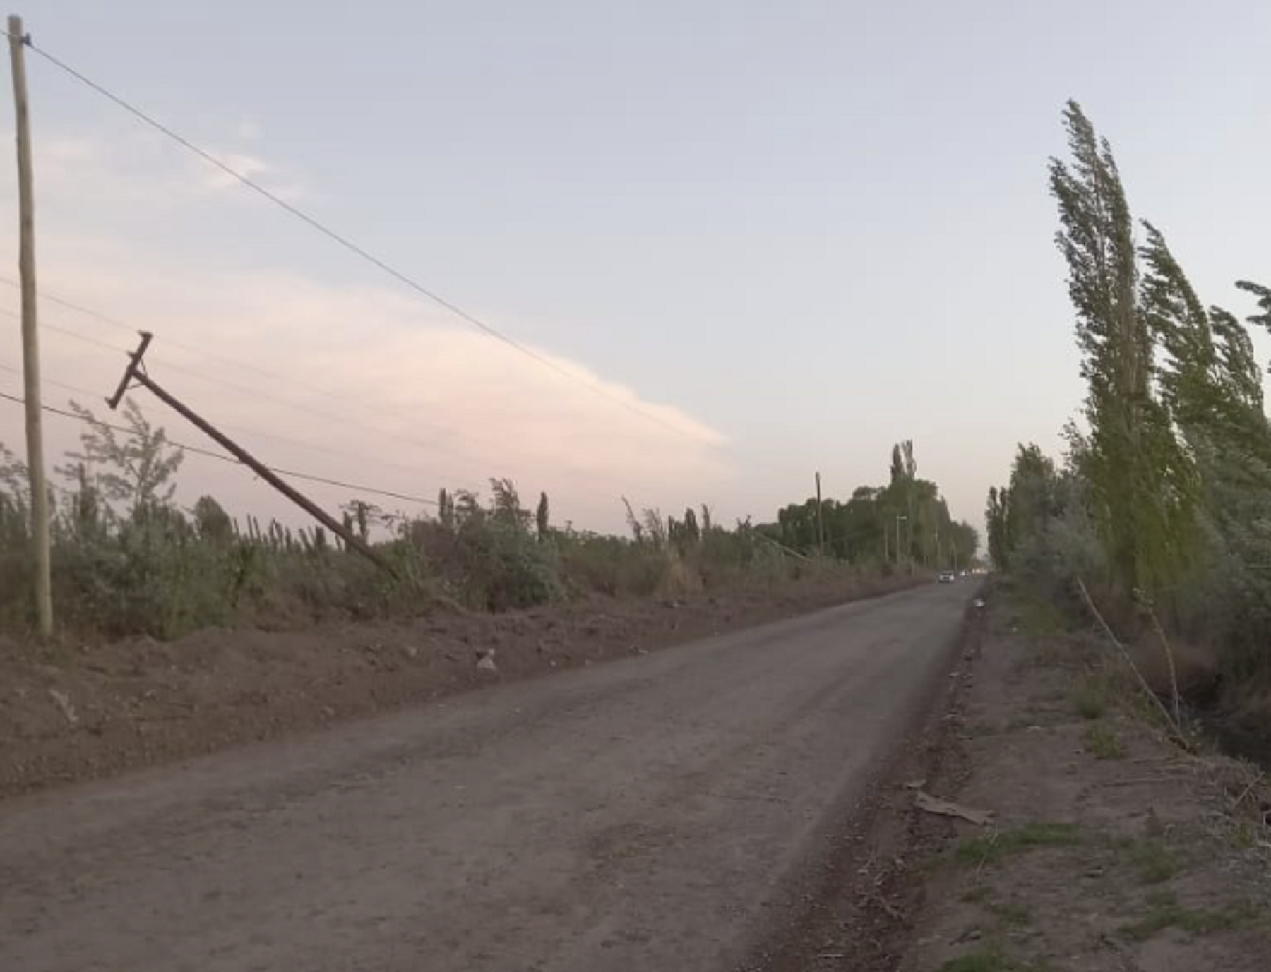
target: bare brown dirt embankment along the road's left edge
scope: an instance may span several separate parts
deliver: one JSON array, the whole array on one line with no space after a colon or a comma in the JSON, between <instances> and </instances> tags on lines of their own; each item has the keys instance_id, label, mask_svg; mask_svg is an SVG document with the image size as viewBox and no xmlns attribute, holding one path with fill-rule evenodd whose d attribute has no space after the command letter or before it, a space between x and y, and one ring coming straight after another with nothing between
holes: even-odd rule
<instances>
[{"instance_id":1,"label":"bare brown dirt embankment along the road's left edge","mask_svg":"<svg viewBox=\"0 0 1271 972\"><path fill-rule=\"evenodd\" d=\"M841 578L56 651L0 639L0 797L657 651L913 582Z\"/></svg>"}]
</instances>

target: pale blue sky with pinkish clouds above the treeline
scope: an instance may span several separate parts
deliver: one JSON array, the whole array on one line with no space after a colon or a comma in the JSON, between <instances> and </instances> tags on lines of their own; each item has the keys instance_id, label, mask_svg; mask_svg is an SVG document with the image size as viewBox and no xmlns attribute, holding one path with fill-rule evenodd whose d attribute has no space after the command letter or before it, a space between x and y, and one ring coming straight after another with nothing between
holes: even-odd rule
<instances>
[{"instance_id":1,"label":"pale blue sky with pinkish clouds above the treeline","mask_svg":"<svg viewBox=\"0 0 1271 972\"><path fill-rule=\"evenodd\" d=\"M616 529L623 493L761 521L820 469L845 498L913 438L919 473L980 523L1016 442L1057 451L1080 403L1046 189L1069 97L1204 300L1243 316L1232 281L1271 282L1266 3L23 6L41 47L583 376L483 337L28 55L42 286L154 330L151 374L272 465L430 497L510 475L558 520ZM11 149L0 186L15 280ZM17 319L0 335L11 394ZM122 354L42 341L47 380L113 389ZM74 441L46 429L55 455ZM0 441L20 451L4 402ZM210 460L182 479L187 502L286 508Z\"/></svg>"}]
</instances>

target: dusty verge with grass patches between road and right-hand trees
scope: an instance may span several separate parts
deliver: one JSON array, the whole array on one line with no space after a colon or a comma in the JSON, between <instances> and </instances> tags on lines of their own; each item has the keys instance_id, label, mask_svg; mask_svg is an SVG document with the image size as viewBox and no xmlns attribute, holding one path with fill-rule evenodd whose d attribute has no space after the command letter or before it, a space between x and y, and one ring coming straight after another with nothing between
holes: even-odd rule
<instances>
[{"instance_id":1,"label":"dusty verge with grass patches between road and right-hand trees","mask_svg":"<svg viewBox=\"0 0 1271 972\"><path fill-rule=\"evenodd\" d=\"M1008 597L986 615L943 715L843 841L773 967L1271 967L1266 778L1169 742L1092 634ZM915 809L919 780L993 822Z\"/></svg>"}]
</instances>

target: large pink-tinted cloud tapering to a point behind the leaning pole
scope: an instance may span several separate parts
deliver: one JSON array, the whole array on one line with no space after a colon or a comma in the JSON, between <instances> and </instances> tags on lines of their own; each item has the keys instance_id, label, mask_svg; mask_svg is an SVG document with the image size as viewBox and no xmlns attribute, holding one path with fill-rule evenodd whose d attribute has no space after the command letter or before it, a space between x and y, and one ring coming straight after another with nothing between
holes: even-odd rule
<instances>
[{"instance_id":1,"label":"large pink-tinted cloud tapering to a point behind the leaning pole","mask_svg":"<svg viewBox=\"0 0 1271 972\"><path fill-rule=\"evenodd\" d=\"M206 282L165 274L145 291L99 278L86 295L78 276L60 266L47 287L153 328L150 374L275 465L425 497L510 476L527 494L548 492L581 525L606 529L622 523L622 496L676 510L714 497L731 478L723 436L707 424L553 356L580 376L566 379L391 291L241 274L220 281L231 295L222 297ZM55 320L121 348L135 343L70 311ZM57 333L44 357L50 377L102 394L123 365ZM51 389L50 400L60 398ZM198 441L183 422L163 421L175 438ZM197 492L219 493L241 473L203 475Z\"/></svg>"}]
</instances>

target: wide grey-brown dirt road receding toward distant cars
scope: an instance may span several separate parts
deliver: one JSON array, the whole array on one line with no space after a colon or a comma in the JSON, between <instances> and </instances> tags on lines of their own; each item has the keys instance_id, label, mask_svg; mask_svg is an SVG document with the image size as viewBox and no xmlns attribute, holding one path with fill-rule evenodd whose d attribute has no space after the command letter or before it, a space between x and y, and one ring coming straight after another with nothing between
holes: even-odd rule
<instances>
[{"instance_id":1,"label":"wide grey-brown dirt road receding toward distant cars","mask_svg":"<svg viewBox=\"0 0 1271 972\"><path fill-rule=\"evenodd\" d=\"M0 804L0 968L730 969L965 584Z\"/></svg>"}]
</instances>

